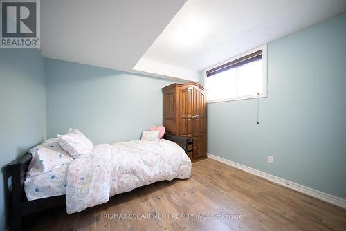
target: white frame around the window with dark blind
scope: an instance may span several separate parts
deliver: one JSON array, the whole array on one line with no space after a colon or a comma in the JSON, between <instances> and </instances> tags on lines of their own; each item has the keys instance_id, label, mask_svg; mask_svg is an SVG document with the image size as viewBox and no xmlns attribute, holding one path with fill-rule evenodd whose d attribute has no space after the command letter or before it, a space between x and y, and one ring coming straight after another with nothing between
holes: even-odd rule
<instances>
[{"instance_id":1,"label":"white frame around the window with dark blind","mask_svg":"<svg viewBox=\"0 0 346 231\"><path fill-rule=\"evenodd\" d=\"M250 55L251 53L256 52L257 50L262 50L262 65L263 65L263 93L260 95L246 95L246 96L239 96L239 97L233 97L233 98L225 98L225 99L219 99L219 100L207 100L207 103L213 103L213 102L226 102L226 101L234 101L234 100L248 100L248 99L257 99L257 98L266 98L268 96L268 75L267 75L267 44L264 44L262 46L258 46L257 48L254 48L252 50L248 50L245 53L242 53L241 55L237 55L231 59L228 59L224 62L221 62L219 64L216 64L214 66L210 66L209 68L206 68L204 70L204 86L207 84L207 74L206 72L211 70L212 68L215 68L217 66L221 66L223 64L226 64L228 62L232 62L235 59L239 59L241 57L244 57L246 55ZM208 89L207 89L208 90Z\"/></svg>"}]
</instances>

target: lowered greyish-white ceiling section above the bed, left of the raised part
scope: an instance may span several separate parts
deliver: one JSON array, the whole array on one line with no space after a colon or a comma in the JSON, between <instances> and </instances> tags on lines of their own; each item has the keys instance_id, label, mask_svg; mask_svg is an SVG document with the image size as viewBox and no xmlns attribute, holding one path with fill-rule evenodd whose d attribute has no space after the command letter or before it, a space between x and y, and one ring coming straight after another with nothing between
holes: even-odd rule
<instances>
[{"instance_id":1,"label":"lowered greyish-white ceiling section above the bed, left of the raised part","mask_svg":"<svg viewBox=\"0 0 346 231\"><path fill-rule=\"evenodd\" d=\"M132 71L185 1L41 1L42 54Z\"/></svg>"}]
</instances>

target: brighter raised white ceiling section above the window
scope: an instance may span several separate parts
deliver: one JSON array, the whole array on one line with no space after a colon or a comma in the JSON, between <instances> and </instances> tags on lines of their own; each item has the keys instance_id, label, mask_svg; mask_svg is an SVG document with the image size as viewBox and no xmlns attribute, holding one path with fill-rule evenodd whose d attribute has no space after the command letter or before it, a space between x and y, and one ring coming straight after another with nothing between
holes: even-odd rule
<instances>
[{"instance_id":1,"label":"brighter raised white ceiling section above the window","mask_svg":"<svg viewBox=\"0 0 346 231\"><path fill-rule=\"evenodd\" d=\"M143 58L201 71L345 10L345 0L188 0Z\"/></svg>"}]
</instances>

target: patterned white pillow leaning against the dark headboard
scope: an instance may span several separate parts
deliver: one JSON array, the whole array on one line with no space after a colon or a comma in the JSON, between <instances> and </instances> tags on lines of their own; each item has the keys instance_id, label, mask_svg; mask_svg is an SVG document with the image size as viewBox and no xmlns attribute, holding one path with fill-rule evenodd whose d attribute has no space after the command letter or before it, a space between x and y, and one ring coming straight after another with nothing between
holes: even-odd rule
<instances>
[{"instance_id":1,"label":"patterned white pillow leaning against the dark headboard","mask_svg":"<svg viewBox=\"0 0 346 231\"><path fill-rule=\"evenodd\" d=\"M58 138L46 140L29 152L33 158L28 167L28 176L50 172L73 160L72 156L60 147Z\"/></svg>"}]
</instances>

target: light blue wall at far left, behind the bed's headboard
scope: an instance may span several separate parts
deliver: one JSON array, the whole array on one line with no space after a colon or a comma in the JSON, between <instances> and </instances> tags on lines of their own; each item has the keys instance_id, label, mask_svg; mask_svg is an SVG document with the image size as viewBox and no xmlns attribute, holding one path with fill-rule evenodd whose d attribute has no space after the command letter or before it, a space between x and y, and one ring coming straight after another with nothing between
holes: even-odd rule
<instances>
[{"instance_id":1,"label":"light blue wall at far left, behind the bed's headboard","mask_svg":"<svg viewBox=\"0 0 346 231\"><path fill-rule=\"evenodd\" d=\"M0 49L0 166L46 138L44 57L37 49ZM0 230L5 226L0 174Z\"/></svg>"}]
</instances>

